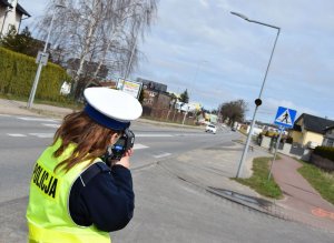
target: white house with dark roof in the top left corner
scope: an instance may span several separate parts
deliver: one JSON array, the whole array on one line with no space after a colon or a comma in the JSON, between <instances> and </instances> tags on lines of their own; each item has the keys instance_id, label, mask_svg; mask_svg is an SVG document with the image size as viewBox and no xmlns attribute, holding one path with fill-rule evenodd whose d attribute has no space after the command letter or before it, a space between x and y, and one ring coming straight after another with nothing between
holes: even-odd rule
<instances>
[{"instance_id":1,"label":"white house with dark roof in the top left corner","mask_svg":"<svg viewBox=\"0 0 334 243\"><path fill-rule=\"evenodd\" d=\"M11 27L19 32L21 21L29 17L18 0L0 0L0 37L6 36Z\"/></svg>"}]
</instances>

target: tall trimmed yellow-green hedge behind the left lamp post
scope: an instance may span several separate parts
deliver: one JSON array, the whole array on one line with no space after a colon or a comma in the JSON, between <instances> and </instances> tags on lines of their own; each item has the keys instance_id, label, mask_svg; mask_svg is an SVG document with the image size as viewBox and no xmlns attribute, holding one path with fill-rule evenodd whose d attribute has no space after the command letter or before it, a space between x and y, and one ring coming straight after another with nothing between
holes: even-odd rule
<instances>
[{"instance_id":1,"label":"tall trimmed yellow-green hedge behind the left lamp post","mask_svg":"<svg viewBox=\"0 0 334 243\"><path fill-rule=\"evenodd\" d=\"M38 67L35 60L35 58L0 47L0 92L28 98ZM66 70L48 62L42 68L35 98L50 101L62 100L60 88L65 80L69 80Z\"/></svg>"}]
</instances>

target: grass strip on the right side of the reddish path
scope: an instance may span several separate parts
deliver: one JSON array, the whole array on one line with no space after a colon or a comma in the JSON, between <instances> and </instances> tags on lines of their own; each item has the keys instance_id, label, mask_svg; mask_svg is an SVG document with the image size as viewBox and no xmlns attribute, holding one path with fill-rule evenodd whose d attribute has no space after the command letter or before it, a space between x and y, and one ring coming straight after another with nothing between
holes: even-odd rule
<instances>
[{"instance_id":1,"label":"grass strip on the right side of the reddish path","mask_svg":"<svg viewBox=\"0 0 334 243\"><path fill-rule=\"evenodd\" d=\"M324 200L334 205L334 172L327 173L313 164L301 160L297 161L303 164L303 166L298 169L303 178L308 181Z\"/></svg>"}]
</instances>

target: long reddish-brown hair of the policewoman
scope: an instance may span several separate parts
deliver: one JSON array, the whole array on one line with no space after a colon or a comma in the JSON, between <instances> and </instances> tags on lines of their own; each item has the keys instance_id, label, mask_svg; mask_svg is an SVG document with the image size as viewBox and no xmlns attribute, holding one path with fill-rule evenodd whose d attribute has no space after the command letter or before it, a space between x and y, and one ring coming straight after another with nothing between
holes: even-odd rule
<instances>
[{"instance_id":1,"label":"long reddish-brown hair of the policewoman","mask_svg":"<svg viewBox=\"0 0 334 243\"><path fill-rule=\"evenodd\" d=\"M55 171L61 168L68 172L81 161L91 160L90 162L92 162L96 158L101 156L115 133L117 132L96 123L84 111L66 115L53 138L53 144L59 139L62 141L53 156L59 158L70 143L75 143L77 146L69 158L56 166Z\"/></svg>"}]
</instances>

